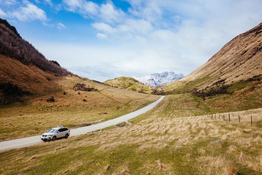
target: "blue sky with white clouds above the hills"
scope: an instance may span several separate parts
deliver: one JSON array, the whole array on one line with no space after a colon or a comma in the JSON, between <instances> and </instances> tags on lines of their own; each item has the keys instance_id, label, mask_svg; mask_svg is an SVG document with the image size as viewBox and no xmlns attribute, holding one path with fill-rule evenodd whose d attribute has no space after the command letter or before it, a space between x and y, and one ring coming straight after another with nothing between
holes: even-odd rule
<instances>
[{"instance_id":1,"label":"blue sky with white clouds above the hills","mask_svg":"<svg viewBox=\"0 0 262 175\"><path fill-rule=\"evenodd\" d=\"M0 0L47 59L89 79L189 74L262 22L262 0Z\"/></svg>"}]
</instances>

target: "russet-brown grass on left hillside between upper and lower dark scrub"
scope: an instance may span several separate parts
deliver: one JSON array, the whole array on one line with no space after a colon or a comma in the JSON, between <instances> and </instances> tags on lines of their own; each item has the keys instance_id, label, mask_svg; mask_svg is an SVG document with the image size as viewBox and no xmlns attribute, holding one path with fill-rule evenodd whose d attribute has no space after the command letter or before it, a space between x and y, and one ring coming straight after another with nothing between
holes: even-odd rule
<instances>
[{"instance_id":1,"label":"russet-brown grass on left hillside between upper and lower dark scrub","mask_svg":"<svg viewBox=\"0 0 262 175\"><path fill-rule=\"evenodd\" d=\"M57 80L59 77L52 73L45 72L34 65L25 65L16 59L0 54L0 82L12 83L24 91L33 95L42 95L59 89L57 84L50 80ZM0 94L0 101L3 99Z\"/></svg>"}]
</instances>

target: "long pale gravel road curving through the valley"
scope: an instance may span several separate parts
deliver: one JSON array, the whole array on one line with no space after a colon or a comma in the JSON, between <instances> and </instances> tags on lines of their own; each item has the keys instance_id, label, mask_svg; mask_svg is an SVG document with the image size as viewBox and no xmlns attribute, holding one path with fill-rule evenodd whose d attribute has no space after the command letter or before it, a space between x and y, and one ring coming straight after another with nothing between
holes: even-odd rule
<instances>
[{"instance_id":1,"label":"long pale gravel road curving through the valley","mask_svg":"<svg viewBox=\"0 0 262 175\"><path fill-rule=\"evenodd\" d=\"M98 129L103 129L105 127L109 127L111 125L115 125L117 123L120 122L124 122L127 121L131 118L134 118L138 115L141 115L149 110L151 110L152 108L154 108L165 96L161 96L158 100L156 100L155 102L152 102L151 104L138 109L136 111L133 111L131 113L119 116L117 118L114 119L110 119L98 124L93 124L90 126L84 126L84 127L79 127L79 128L75 128L75 129L70 129L70 136L75 136L75 135L80 135L80 134L84 134L87 132L91 132L94 130L98 130ZM12 149L12 148L19 148L19 147L25 147L25 146L30 146L30 145L34 145L34 144L39 144L42 143L43 141L40 140L40 135L36 135L36 136L30 136L30 137L25 137L25 138L18 138L18 139L12 139L12 140L7 140L7 141L1 141L0 142L0 151L6 150L6 149Z\"/></svg>"}]
</instances>

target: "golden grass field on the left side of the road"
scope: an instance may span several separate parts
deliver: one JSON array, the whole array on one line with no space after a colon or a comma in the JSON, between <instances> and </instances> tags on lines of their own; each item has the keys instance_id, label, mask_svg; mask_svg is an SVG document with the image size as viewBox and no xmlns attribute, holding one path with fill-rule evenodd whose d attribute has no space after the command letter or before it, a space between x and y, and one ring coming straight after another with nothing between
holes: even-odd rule
<instances>
[{"instance_id":1,"label":"golden grass field on the left side of the road","mask_svg":"<svg viewBox=\"0 0 262 175\"><path fill-rule=\"evenodd\" d=\"M76 76L60 78L56 82L61 88L55 92L27 102L0 107L0 140L40 134L60 124L75 128L105 121L134 111L159 98L156 95L118 89ZM98 91L75 91L73 86L78 82ZM46 102L45 99L51 95L55 102Z\"/></svg>"}]
</instances>

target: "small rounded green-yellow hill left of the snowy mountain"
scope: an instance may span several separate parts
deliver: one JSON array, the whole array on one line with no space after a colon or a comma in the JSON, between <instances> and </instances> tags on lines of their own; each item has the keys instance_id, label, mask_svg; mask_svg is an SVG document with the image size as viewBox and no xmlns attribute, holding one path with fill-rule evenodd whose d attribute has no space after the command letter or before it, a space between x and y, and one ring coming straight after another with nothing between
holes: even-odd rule
<instances>
[{"instance_id":1,"label":"small rounded green-yellow hill left of the snowy mountain","mask_svg":"<svg viewBox=\"0 0 262 175\"><path fill-rule=\"evenodd\" d=\"M125 77L121 76L114 79L108 79L104 81L104 83L118 87L123 88L131 91L141 92L141 93L152 93L153 87L150 87L135 78L132 77Z\"/></svg>"}]
</instances>

